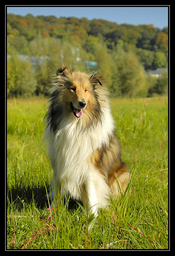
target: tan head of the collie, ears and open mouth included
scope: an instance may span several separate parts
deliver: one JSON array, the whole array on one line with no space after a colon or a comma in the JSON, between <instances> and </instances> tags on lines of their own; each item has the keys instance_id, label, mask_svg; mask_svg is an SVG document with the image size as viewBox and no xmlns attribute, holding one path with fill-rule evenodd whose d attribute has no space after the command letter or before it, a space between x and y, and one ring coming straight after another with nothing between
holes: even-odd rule
<instances>
[{"instance_id":1,"label":"tan head of the collie, ears and open mouth included","mask_svg":"<svg viewBox=\"0 0 175 256\"><path fill-rule=\"evenodd\" d=\"M60 81L62 79L63 86L66 87L63 95L63 101L67 103L66 108L70 109L76 118L80 118L83 112L86 112L86 108L93 104L95 100L93 90L95 84L102 85L101 77L72 71L67 67L57 70L57 75Z\"/></svg>"}]
</instances>

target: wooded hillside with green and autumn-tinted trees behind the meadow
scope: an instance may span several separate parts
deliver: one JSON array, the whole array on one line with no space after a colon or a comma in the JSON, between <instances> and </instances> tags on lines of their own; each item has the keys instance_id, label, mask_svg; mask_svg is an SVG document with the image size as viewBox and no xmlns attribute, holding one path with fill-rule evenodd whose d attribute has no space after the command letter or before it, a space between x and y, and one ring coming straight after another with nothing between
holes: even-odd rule
<instances>
[{"instance_id":1,"label":"wooded hillside with green and autumn-tinted trees behind the meadow","mask_svg":"<svg viewBox=\"0 0 175 256\"><path fill-rule=\"evenodd\" d=\"M60 64L104 76L113 97L168 94L168 28L7 15L7 97L47 94Z\"/></svg>"}]
</instances>

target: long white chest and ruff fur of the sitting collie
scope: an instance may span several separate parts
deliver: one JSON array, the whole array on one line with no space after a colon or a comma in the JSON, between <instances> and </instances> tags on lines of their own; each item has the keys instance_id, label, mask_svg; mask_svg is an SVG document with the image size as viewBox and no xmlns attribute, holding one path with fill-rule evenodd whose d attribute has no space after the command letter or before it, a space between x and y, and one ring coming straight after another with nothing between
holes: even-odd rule
<instances>
[{"instance_id":1,"label":"long white chest and ruff fur of the sitting collie","mask_svg":"<svg viewBox=\"0 0 175 256\"><path fill-rule=\"evenodd\" d=\"M105 118L96 128L81 131L80 119L70 116L63 120L56 134L48 126L49 154L54 169L54 179L61 184L73 198L81 198L83 184L89 183L89 177L95 172L89 159L92 152L103 144L109 144L109 135L114 130L113 119L109 109Z\"/></svg>"}]
</instances>

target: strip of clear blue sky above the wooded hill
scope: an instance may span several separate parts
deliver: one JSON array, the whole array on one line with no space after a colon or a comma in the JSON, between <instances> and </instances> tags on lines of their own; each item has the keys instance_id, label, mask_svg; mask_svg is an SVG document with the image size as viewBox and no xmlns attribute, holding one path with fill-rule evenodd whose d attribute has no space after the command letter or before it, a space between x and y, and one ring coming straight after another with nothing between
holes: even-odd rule
<instances>
[{"instance_id":1,"label":"strip of clear blue sky above the wooded hill","mask_svg":"<svg viewBox=\"0 0 175 256\"><path fill-rule=\"evenodd\" d=\"M168 6L6 6L7 13L25 16L54 15L56 17L86 17L103 19L117 24L154 24L163 29L168 26Z\"/></svg>"}]
</instances>

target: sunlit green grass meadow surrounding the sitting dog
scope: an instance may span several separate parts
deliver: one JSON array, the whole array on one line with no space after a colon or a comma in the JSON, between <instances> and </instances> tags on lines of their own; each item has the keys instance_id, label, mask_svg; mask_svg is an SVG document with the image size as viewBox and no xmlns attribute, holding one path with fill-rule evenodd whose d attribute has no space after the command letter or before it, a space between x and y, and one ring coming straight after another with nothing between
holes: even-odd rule
<instances>
[{"instance_id":1,"label":"sunlit green grass meadow surrounding the sitting dog","mask_svg":"<svg viewBox=\"0 0 175 256\"><path fill-rule=\"evenodd\" d=\"M61 201L44 211L52 169L44 137L46 99L7 101L7 249L168 249L168 99L111 99L126 191L97 219Z\"/></svg>"}]
</instances>

